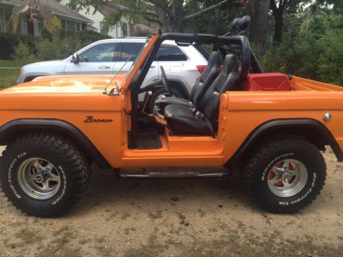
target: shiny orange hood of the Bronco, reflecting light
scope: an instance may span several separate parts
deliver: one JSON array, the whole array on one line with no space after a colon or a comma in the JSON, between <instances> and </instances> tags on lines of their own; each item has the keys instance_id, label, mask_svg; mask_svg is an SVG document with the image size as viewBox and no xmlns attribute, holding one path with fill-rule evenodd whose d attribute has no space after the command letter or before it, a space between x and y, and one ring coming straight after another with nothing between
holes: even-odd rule
<instances>
[{"instance_id":1,"label":"shiny orange hood of the Bronco, reflecting light","mask_svg":"<svg viewBox=\"0 0 343 257\"><path fill-rule=\"evenodd\" d=\"M121 88L121 83L126 74L120 74L113 79L110 88L115 86ZM113 75L72 75L37 77L31 82L22 83L0 91L1 93L103 93L104 89L113 78Z\"/></svg>"}]
</instances>

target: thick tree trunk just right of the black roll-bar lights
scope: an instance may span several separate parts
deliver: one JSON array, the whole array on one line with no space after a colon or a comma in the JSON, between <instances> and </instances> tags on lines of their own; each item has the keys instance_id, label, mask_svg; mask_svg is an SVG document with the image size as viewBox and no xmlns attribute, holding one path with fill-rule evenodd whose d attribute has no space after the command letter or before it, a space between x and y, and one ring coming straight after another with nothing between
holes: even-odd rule
<instances>
[{"instance_id":1,"label":"thick tree trunk just right of the black roll-bar lights","mask_svg":"<svg viewBox=\"0 0 343 257\"><path fill-rule=\"evenodd\" d=\"M250 3L250 38L259 46L264 46L267 38L269 5L270 0L252 0Z\"/></svg>"}]
</instances>

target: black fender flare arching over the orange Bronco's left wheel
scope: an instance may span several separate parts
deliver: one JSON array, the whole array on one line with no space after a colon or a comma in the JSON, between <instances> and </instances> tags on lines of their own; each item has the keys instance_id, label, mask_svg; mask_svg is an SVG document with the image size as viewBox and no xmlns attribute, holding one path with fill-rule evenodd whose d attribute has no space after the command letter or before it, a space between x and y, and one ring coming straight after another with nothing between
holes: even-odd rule
<instances>
[{"instance_id":1,"label":"black fender flare arching over the orange Bronco's left wheel","mask_svg":"<svg viewBox=\"0 0 343 257\"><path fill-rule=\"evenodd\" d=\"M19 130L52 130L67 134L99 167L104 169L111 167L91 140L78 127L67 121L60 119L15 119L0 127L0 142L5 142L10 134Z\"/></svg>"}]
</instances>

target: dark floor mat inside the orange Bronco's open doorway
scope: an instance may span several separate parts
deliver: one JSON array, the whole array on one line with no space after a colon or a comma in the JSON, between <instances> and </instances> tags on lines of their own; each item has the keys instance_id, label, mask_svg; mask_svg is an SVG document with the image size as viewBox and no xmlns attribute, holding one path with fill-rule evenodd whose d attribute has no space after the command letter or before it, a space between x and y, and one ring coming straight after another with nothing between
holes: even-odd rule
<instances>
[{"instance_id":1,"label":"dark floor mat inside the orange Bronco's open doorway","mask_svg":"<svg viewBox=\"0 0 343 257\"><path fill-rule=\"evenodd\" d=\"M130 138L130 134L129 137ZM130 139L129 139L130 140ZM145 128L138 130L137 149L158 149L162 148L162 142L157 130Z\"/></svg>"}]
</instances>

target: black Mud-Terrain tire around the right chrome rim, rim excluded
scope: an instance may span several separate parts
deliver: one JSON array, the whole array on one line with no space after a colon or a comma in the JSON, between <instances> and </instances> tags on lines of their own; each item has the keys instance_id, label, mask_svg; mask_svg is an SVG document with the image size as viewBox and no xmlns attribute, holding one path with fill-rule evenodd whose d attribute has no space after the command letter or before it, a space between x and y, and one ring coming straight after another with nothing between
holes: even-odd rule
<instances>
[{"instance_id":1,"label":"black Mud-Terrain tire around the right chrome rim, rim excluded","mask_svg":"<svg viewBox=\"0 0 343 257\"><path fill-rule=\"evenodd\" d=\"M268 186L270 170L282 160L298 160L307 170L302 189L292 196L279 196ZM292 213L311 204L320 194L327 175L327 167L320 151L308 140L286 135L266 140L252 151L243 170L244 183L250 197L265 210Z\"/></svg>"}]
</instances>

